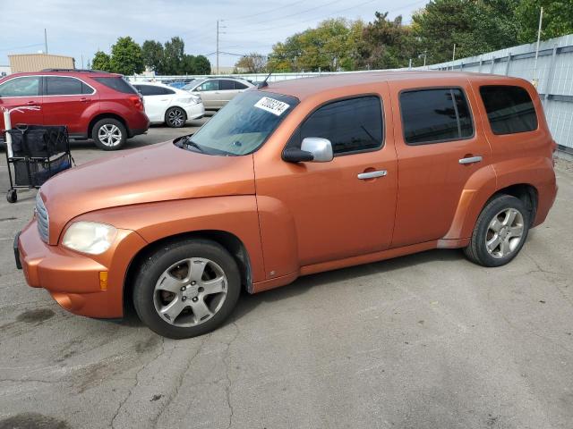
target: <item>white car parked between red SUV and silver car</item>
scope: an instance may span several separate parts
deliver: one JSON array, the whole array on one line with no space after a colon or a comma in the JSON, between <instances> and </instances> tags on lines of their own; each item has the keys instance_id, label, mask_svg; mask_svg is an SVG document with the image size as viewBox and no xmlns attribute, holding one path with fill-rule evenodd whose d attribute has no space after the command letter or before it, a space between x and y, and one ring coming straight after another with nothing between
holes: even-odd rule
<instances>
[{"instance_id":1,"label":"white car parked between red SUV and silver car","mask_svg":"<svg viewBox=\"0 0 573 429\"><path fill-rule=\"evenodd\" d=\"M205 115L205 107L198 95L157 82L134 82L133 86L143 96L145 113L151 123L181 128L185 122Z\"/></svg>"}]
</instances>

